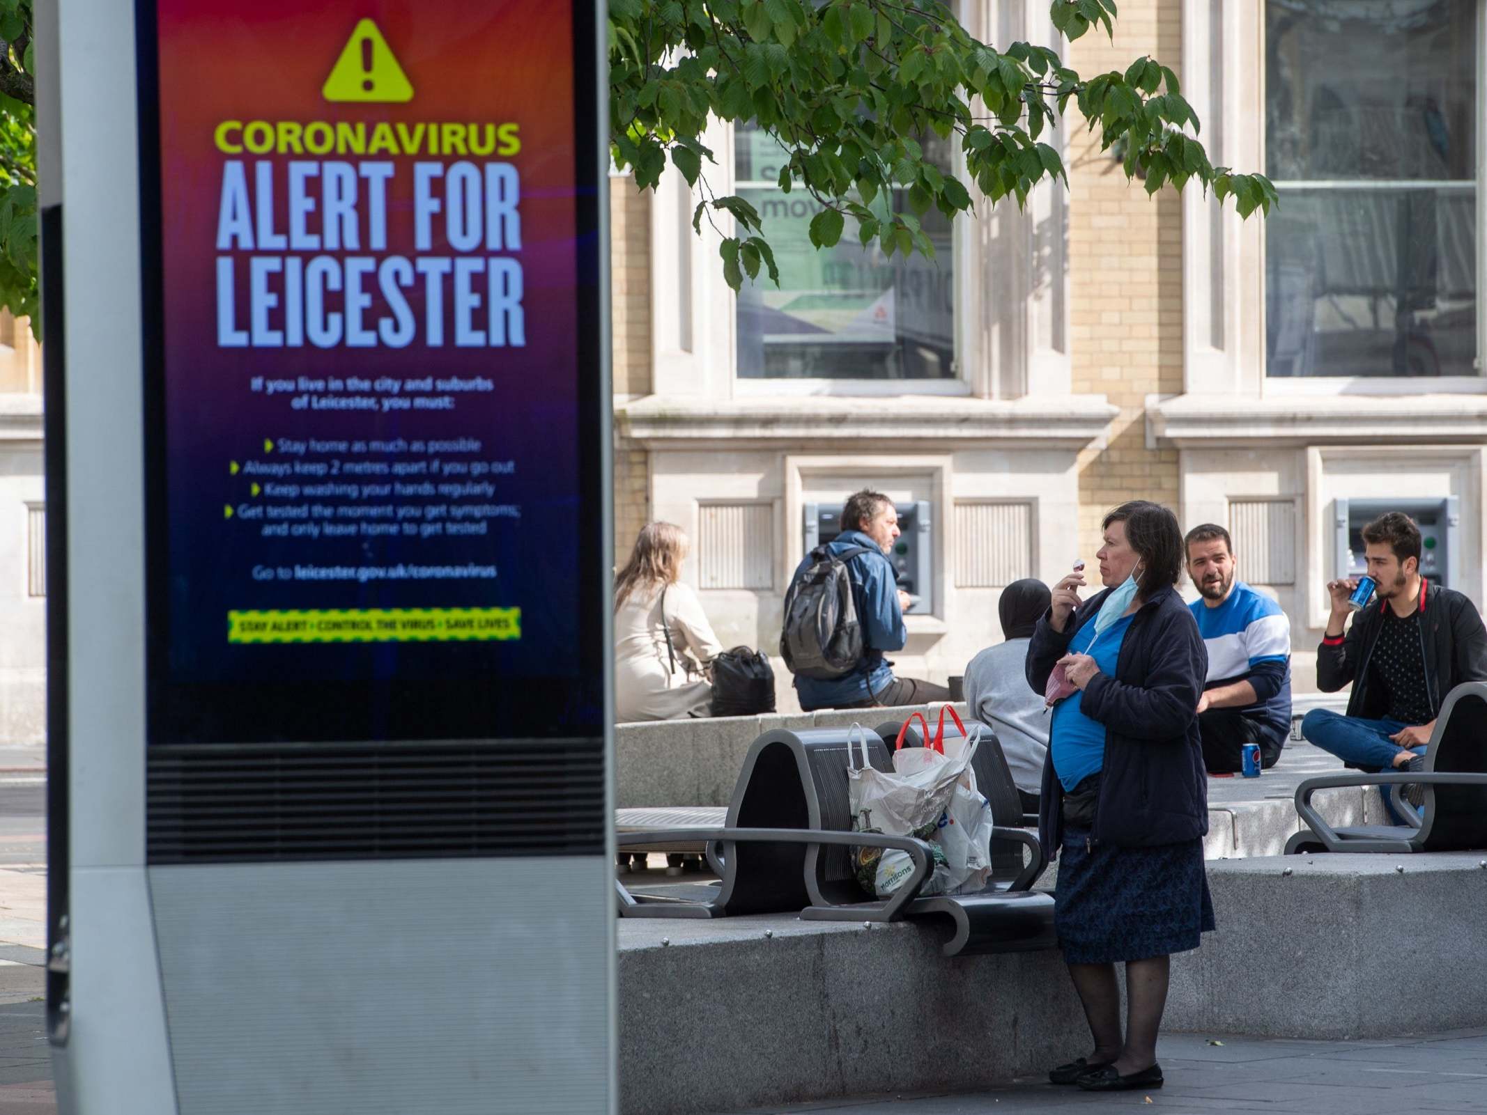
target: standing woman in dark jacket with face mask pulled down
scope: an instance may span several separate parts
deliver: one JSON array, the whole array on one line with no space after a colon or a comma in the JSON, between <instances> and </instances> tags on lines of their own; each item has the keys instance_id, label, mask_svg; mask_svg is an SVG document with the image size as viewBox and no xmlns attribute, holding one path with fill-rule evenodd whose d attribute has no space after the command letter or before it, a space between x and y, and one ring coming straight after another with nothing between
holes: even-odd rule
<instances>
[{"instance_id":1,"label":"standing woman in dark jacket with face mask pulled down","mask_svg":"<svg viewBox=\"0 0 1487 1115\"><path fill-rule=\"evenodd\" d=\"M1103 528L1106 590L1081 601L1077 566L1028 647L1028 682L1056 700L1038 828L1050 855L1062 849L1054 923L1094 1036L1094 1053L1048 1079L1090 1091L1161 1087L1169 957L1213 929L1197 728L1207 653L1173 587L1182 531L1146 501L1117 507Z\"/></svg>"}]
</instances>

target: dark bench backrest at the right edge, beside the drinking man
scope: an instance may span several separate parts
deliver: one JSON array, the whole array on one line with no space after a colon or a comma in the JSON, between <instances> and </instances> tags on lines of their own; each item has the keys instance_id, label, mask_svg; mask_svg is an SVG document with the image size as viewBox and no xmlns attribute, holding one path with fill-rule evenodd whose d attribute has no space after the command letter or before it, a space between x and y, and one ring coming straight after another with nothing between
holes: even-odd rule
<instances>
[{"instance_id":1,"label":"dark bench backrest at the right edge, beside the drinking man","mask_svg":"<svg viewBox=\"0 0 1487 1115\"><path fill-rule=\"evenodd\" d=\"M1487 685L1466 682L1451 690L1441 721L1425 769L1436 775L1487 775ZM1425 852L1487 847L1487 783L1425 783L1425 821L1416 838Z\"/></svg>"}]
</instances>

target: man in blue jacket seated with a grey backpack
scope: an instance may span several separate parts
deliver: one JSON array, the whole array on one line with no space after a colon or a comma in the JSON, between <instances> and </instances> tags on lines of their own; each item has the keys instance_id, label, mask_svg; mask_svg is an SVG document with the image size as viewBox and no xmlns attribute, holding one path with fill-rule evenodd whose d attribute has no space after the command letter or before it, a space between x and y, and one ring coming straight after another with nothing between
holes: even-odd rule
<instances>
[{"instance_id":1,"label":"man in blue jacket seated with a grey backpack","mask_svg":"<svg viewBox=\"0 0 1487 1115\"><path fill-rule=\"evenodd\" d=\"M807 553L790 580L779 653L804 712L950 699L944 685L895 678L883 657L909 639L909 593L888 560L897 538L894 501L864 489L842 508L842 534Z\"/></svg>"}]
</instances>

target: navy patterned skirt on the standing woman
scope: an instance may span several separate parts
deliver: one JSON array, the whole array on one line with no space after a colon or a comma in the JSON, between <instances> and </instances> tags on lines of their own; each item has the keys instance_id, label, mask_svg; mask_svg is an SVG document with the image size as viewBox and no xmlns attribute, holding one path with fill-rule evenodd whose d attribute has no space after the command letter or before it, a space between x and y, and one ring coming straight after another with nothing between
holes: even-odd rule
<instances>
[{"instance_id":1,"label":"navy patterned skirt on the standing woman","mask_svg":"<svg viewBox=\"0 0 1487 1115\"><path fill-rule=\"evenodd\" d=\"M1053 925L1066 963L1145 960L1197 948L1213 931L1203 841L1086 849L1065 828Z\"/></svg>"}]
</instances>

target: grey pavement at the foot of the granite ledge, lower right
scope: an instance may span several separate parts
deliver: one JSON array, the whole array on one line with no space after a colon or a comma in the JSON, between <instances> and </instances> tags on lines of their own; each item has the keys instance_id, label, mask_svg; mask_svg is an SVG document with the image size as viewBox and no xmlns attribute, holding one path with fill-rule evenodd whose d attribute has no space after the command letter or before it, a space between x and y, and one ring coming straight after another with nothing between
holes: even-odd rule
<instances>
[{"instance_id":1,"label":"grey pavement at the foot of the granite ledge, lower right","mask_svg":"<svg viewBox=\"0 0 1487 1115\"><path fill-rule=\"evenodd\" d=\"M1215 1044L1221 1042L1221 1044ZM1099 1109L1267 1112L1267 1115L1401 1115L1487 1111L1487 1029L1428 1038L1300 1042L1166 1035L1158 1047L1166 1085L1097 1096L1017 1081L972 1094L871 1096L751 1115L1093 1115ZM3 1111L3 1108L0 1108ZM742 1115L742 1114L739 1114Z\"/></svg>"}]
</instances>

